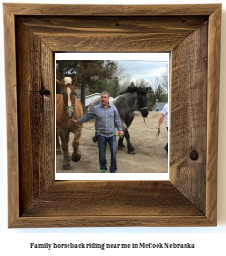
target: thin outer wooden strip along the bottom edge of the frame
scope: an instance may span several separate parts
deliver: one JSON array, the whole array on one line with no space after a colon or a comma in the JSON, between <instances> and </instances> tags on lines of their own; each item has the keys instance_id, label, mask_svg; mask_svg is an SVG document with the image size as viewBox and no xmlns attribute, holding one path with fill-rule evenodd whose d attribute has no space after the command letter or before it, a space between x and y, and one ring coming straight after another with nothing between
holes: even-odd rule
<instances>
[{"instance_id":1,"label":"thin outer wooden strip along the bottom edge of the frame","mask_svg":"<svg viewBox=\"0 0 226 256\"><path fill-rule=\"evenodd\" d=\"M61 216L21 217L10 228L42 227L206 227L214 226L204 216Z\"/></svg>"}]
</instances>

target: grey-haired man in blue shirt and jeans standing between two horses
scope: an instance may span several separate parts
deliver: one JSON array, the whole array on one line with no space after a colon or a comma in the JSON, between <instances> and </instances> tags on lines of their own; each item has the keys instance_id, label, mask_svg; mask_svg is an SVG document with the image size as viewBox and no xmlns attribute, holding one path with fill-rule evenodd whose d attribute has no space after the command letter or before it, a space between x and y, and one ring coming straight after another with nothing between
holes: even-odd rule
<instances>
[{"instance_id":1,"label":"grey-haired man in blue shirt and jeans standing between two horses","mask_svg":"<svg viewBox=\"0 0 226 256\"><path fill-rule=\"evenodd\" d=\"M120 136L124 135L121 128L121 120L117 108L109 102L109 93L104 91L101 93L101 103L95 105L88 113L78 120L73 119L74 123L84 123L90 119L96 117L96 128L97 128L97 141L99 148L99 163L100 173L107 172L107 161L106 161L106 145L110 146L111 163L110 173L115 173L117 170L116 162L116 129Z\"/></svg>"}]
</instances>

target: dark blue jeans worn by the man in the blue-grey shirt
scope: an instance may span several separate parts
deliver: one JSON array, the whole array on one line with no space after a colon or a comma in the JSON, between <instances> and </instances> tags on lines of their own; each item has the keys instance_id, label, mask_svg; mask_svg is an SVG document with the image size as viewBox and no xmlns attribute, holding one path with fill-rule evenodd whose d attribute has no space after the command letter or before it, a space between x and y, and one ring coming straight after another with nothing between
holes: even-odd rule
<instances>
[{"instance_id":1,"label":"dark blue jeans worn by the man in the blue-grey shirt","mask_svg":"<svg viewBox=\"0 0 226 256\"><path fill-rule=\"evenodd\" d=\"M107 161L106 161L106 145L107 143L110 146L110 153L111 153L111 163L110 163L110 173L115 173L117 170L117 140L116 136L112 137L104 137L102 135L97 136L98 141L98 148L99 148L99 163L100 169L107 170Z\"/></svg>"}]
</instances>

